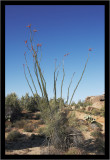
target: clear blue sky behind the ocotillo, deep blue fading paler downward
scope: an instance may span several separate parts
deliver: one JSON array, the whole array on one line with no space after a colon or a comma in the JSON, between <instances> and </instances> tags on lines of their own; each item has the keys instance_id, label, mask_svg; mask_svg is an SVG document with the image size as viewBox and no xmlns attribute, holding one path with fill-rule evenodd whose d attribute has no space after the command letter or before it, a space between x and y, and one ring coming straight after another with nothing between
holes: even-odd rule
<instances>
[{"instance_id":1,"label":"clear blue sky behind the ocotillo, deep blue fading paler downward","mask_svg":"<svg viewBox=\"0 0 110 160\"><path fill-rule=\"evenodd\" d=\"M105 46L104 46L104 6L103 5L7 5L5 7L5 95L15 92L20 98L32 93L24 76L24 43L29 28L37 29L35 45L42 44L41 68L47 83L49 98L53 98L54 59L59 64L65 57L65 79L63 98L66 100L68 86L73 72L75 76L70 88L70 98L85 66L89 48L89 61L73 101L84 100L87 96L104 93ZM29 43L29 37L28 37ZM39 53L40 54L40 53ZM28 65L36 88L41 95L34 74L33 57L26 53ZM26 70L27 77L31 79ZM57 80L57 98L61 95L62 66ZM32 87L33 88L33 87ZM34 89L33 89L34 90Z\"/></svg>"}]
</instances>

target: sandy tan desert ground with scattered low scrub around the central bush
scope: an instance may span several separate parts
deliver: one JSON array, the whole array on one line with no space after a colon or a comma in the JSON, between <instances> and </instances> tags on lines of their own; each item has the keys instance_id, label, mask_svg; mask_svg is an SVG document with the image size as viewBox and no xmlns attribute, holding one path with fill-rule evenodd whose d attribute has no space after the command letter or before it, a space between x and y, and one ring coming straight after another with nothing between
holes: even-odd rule
<instances>
[{"instance_id":1,"label":"sandy tan desert ground with scattered low scrub around the central bush","mask_svg":"<svg viewBox=\"0 0 110 160\"><path fill-rule=\"evenodd\" d=\"M78 128L84 136L84 146L70 147L68 151L61 152L60 154L77 154L77 155L103 155L104 149L96 145L96 137L93 132L101 132L103 139L105 136L105 118L104 118L104 95L87 97L85 101L92 102L91 106L86 108L75 106L70 107L68 116L75 116ZM101 113L101 114L100 114ZM102 114L103 113L103 114ZM48 146L45 143L45 136L42 134L45 124L40 118L40 112L27 112L22 111L22 118L14 123L9 121L5 122L5 154L6 155L42 155L42 154L59 154L53 146ZM87 123L85 117L90 115L96 123ZM73 117L74 119L74 117ZM71 118L72 121L72 118ZM28 126L26 128L26 126ZM17 131L20 136L17 138L9 137L12 131ZM50 148L49 148L50 147ZM49 149L52 151L49 151Z\"/></svg>"}]
</instances>

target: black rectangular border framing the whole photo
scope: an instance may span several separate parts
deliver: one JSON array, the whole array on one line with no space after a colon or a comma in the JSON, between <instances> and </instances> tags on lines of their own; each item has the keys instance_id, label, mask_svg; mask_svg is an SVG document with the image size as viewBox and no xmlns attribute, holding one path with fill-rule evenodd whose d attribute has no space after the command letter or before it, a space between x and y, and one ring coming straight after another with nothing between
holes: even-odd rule
<instances>
[{"instance_id":1,"label":"black rectangular border framing the whole photo","mask_svg":"<svg viewBox=\"0 0 110 160\"><path fill-rule=\"evenodd\" d=\"M105 6L105 155L5 155L5 6ZM109 159L109 1L1 1L1 159Z\"/></svg>"}]
</instances>

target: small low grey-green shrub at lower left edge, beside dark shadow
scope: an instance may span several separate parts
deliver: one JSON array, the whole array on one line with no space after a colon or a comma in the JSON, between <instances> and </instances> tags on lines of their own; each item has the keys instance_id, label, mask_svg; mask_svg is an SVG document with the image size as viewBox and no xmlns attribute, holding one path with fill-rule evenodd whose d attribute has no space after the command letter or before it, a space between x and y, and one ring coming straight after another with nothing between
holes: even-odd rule
<instances>
[{"instance_id":1,"label":"small low grey-green shrub at lower left edge, beside dark shadow","mask_svg":"<svg viewBox=\"0 0 110 160\"><path fill-rule=\"evenodd\" d=\"M8 141L15 141L18 138L20 138L22 136L22 134L18 131L11 131L8 136L7 136L7 140Z\"/></svg>"}]
</instances>

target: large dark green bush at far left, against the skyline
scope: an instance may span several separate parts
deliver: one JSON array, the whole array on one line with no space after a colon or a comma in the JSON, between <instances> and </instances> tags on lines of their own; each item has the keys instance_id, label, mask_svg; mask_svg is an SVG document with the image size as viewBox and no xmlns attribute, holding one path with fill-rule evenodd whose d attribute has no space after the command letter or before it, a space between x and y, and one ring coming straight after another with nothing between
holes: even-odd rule
<instances>
[{"instance_id":1,"label":"large dark green bush at far left, against the skyline","mask_svg":"<svg viewBox=\"0 0 110 160\"><path fill-rule=\"evenodd\" d=\"M21 117L21 107L16 93L8 94L5 97L5 117L10 117L11 121L15 121Z\"/></svg>"}]
</instances>

